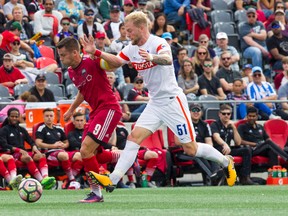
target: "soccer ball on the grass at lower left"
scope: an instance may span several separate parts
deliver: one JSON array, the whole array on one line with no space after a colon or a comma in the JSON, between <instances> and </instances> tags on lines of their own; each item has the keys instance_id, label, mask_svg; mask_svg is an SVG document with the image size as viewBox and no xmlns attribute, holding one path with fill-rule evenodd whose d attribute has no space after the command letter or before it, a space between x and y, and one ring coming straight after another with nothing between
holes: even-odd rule
<instances>
[{"instance_id":1,"label":"soccer ball on the grass at lower left","mask_svg":"<svg viewBox=\"0 0 288 216\"><path fill-rule=\"evenodd\" d=\"M18 187L18 194L25 202L36 202L42 195L42 185L36 179L22 180Z\"/></svg>"}]
</instances>

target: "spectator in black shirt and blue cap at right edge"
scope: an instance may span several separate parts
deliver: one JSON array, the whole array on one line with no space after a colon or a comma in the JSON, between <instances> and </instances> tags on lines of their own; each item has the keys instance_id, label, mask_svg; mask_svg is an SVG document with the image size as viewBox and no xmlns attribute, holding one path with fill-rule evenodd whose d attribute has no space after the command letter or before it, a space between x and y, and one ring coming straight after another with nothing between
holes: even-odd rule
<instances>
[{"instance_id":1,"label":"spectator in black shirt and blue cap at right edge","mask_svg":"<svg viewBox=\"0 0 288 216\"><path fill-rule=\"evenodd\" d=\"M272 69L283 70L282 59L288 56L288 37L284 36L281 31L279 21L271 23L273 35L267 40L267 47L272 55Z\"/></svg>"}]
</instances>

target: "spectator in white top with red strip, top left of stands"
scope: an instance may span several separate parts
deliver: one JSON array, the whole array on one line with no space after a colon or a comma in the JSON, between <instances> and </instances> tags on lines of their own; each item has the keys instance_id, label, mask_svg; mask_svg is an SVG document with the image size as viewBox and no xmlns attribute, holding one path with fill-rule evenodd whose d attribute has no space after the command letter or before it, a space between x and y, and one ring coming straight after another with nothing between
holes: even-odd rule
<instances>
[{"instance_id":1,"label":"spectator in white top with red strip, top left of stands","mask_svg":"<svg viewBox=\"0 0 288 216\"><path fill-rule=\"evenodd\" d=\"M34 32L40 32L45 41L53 44L53 39L62 29L60 21L63 18L63 15L54 10L54 1L53 0L43 0L44 10L39 10L34 14ZM48 43L47 42L47 43Z\"/></svg>"}]
</instances>

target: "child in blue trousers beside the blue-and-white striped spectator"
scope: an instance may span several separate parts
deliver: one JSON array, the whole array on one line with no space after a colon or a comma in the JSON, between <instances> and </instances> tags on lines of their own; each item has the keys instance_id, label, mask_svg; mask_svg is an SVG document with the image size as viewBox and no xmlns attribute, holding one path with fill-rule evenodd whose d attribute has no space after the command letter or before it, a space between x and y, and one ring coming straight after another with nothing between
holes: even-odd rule
<instances>
[{"instance_id":1,"label":"child in blue trousers beside the blue-and-white striped spectator","mask_svg":"<svg viewBox=\"0 0 288 216\"><path fill-rule=\"evenodd\" d=\"M237 106L237 119L244 119L247 116L247 106L253 106L251 103L241 103L243 100L249 100L247 94L243 93L243 80L242 79L235 79L233 81L232 92L227 94L226 100L235 100L239 101L236 103ZM231 103L231 107L234 107L234 103Z\"/></svg>"}]
</instances>

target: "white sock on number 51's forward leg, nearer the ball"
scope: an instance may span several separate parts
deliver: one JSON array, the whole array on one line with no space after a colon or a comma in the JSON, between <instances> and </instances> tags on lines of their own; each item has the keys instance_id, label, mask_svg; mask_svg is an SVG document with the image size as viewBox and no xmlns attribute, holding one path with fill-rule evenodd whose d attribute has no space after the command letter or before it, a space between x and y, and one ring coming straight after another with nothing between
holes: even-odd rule
<instances>
[{"instance_id":1,"label":"white sock on number 51's forward leg, nearer the ball","mask_svg":"<svg viewBox=\"0 0 288 216\"><path fill-rule=\"evenodd\" d=\"M121 152L120 158L115 166L114 171L109 175L109 178L116 185L119 180L125 175L127 170L132 166L137 156L140 145L127 140L124 150Z\"/></svg>"}]
</instances>

